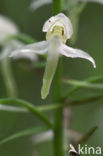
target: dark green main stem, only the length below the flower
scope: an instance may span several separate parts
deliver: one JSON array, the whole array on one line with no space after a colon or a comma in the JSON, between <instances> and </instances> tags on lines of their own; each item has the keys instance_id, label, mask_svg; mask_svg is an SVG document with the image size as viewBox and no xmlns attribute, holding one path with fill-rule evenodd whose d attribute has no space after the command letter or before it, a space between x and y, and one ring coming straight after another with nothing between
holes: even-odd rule
<instances>
[{"instance_id":1,"label":"dark green main stem, only the length below the flower","mask_svg":"<svg viewBox=\"0 0 103 156\"><path fill-rule=\"evenodd\" d=\"M61 60L54 78L54 101L61 105ZM54 111L54 153L55 156L63 156L63 108Z\"/></svg>"}]
</instances>

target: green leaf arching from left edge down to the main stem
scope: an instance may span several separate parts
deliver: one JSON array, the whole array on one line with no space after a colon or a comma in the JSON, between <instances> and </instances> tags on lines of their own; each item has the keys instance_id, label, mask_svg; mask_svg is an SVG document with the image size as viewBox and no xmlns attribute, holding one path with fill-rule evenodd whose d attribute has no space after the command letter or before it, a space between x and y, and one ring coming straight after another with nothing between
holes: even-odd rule
<instances>
[{"instance_id":1,"label":"green leaf arching from left edge down to the main stem","mask_svg":"<svg viewBox=\"0 0 103 156\"><path fill-rule=\"evenodd\" d=\"M50 122L48 117L44 113L42 113L36 106L32 105L29 102L26 102L24 100L8 98L8 99L0 99L0 103L5 104L5 105L12 105L12 104L15 105L16 104L16 105L19 105L19 106L23 106L27 110L32 112L32 114L39 117L47 126L53 127L53 124Z\"/></svg>"}]
</instances>

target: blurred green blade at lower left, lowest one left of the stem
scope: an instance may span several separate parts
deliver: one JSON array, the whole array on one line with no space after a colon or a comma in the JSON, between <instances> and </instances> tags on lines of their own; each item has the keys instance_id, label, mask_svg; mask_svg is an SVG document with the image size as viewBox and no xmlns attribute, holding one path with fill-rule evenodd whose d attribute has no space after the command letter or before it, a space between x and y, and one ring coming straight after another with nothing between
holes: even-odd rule
<instances>
[{"instance_id":1,"label":"blurred green blade at lower left, lowest one left of the stem","mask_svg":"<svg viewBox=\"0 0 103 156\"><path fill-rule=\"evenodd\" d=\"M21 138L23 136L29 136L29 135L32 135L32 134L37 134L37 133L45 132L45 131L48 131L48 130L49 130L49 128L47 128L47 127L30 128L30 129L27 129L27 130L12 134L11 136L1 140L0 145L4 144L4 143L7 143L9 141L12 141L14 139L17 139L17 138Z\"/></svg>"}]
</instances>

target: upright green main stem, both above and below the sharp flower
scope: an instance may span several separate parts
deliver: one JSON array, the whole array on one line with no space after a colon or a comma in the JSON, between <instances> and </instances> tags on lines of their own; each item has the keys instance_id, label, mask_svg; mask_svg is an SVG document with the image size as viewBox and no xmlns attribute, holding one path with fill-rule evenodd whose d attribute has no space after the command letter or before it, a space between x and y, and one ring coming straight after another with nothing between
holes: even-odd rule
<instances>
[{"instance_id":1,"label":"upright green main stem, both above and below the sharp flower","mask_svg":"<svg viewBox=\"0 0 103 156\"><path fill-rule=\"evenodd\" d=\"M53 15L62 11L64 0L53 0ZM58 68L54 78L54 102L58 105L61 101L61 60L59 60ZM54 112L54 155L63 156L63 113L62 108Z\"/></svg>"}]
</instances>

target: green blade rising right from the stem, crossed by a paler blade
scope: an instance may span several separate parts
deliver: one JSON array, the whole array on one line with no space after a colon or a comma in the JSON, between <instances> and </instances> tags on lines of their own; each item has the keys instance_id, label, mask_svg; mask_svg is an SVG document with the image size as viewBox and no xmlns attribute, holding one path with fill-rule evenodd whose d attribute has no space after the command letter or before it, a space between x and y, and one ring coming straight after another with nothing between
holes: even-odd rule
<instances>
[{"instance_id":1,"label":"green blade rising right from the stem, crossed by a paler blade","mask_svg":"<svg viewBox=\"0 0 103 156\"><path fill-rule=\"evenodd\" d=\"M64 80L63 80L64 81ZM87 83L102 83L103 82L103 76L94 76L94 77L90 77L86 80L84 80L83 82L87 82ZM69 89L69 91L67 91L67 93L63 96L63 98L65 99L66 97L68 97L69 95L71 95L72 93L78 91L79 89L83 88L83 86L75 86L72 87L71 89Z\"/></svg>"}]
</instances>

